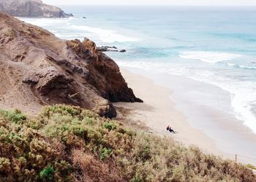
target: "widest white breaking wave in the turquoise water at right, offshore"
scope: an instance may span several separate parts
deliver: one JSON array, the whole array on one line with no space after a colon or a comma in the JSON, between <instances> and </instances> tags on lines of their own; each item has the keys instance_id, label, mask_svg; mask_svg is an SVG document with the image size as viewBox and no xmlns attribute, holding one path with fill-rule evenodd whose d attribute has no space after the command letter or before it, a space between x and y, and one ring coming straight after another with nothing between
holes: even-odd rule
<instances>
[{"instance_id":1,"label":"widest white breaking wave in the turquoise water at right, offshore","mask_svg":"<svg viewBox=\"0 0 256 182\"><path fill-rule=\"evenodd\" d=\"M186 51L181 52L178 56L185 59L201 60L207 63L218 63L239 58L241 55L226 52Z\"/></svg>"}]
</instances>

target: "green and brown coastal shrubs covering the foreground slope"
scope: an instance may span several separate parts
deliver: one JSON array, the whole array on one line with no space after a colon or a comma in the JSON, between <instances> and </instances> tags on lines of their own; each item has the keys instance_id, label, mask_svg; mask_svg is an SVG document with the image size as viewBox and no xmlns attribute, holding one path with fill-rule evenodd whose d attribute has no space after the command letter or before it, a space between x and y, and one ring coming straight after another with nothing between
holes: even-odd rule
<instances>
[{"instance_id":1,"label":"green and brown coastal shrubs covering the foreground slope","mask_svg":"<svg viewBox=\"0 0 256 182\"><path fill-rule=\"evenodd\" d=\"M0 111L0 181L255 181L248 167L75 106Z\"/></svg>"}]
</instances>

